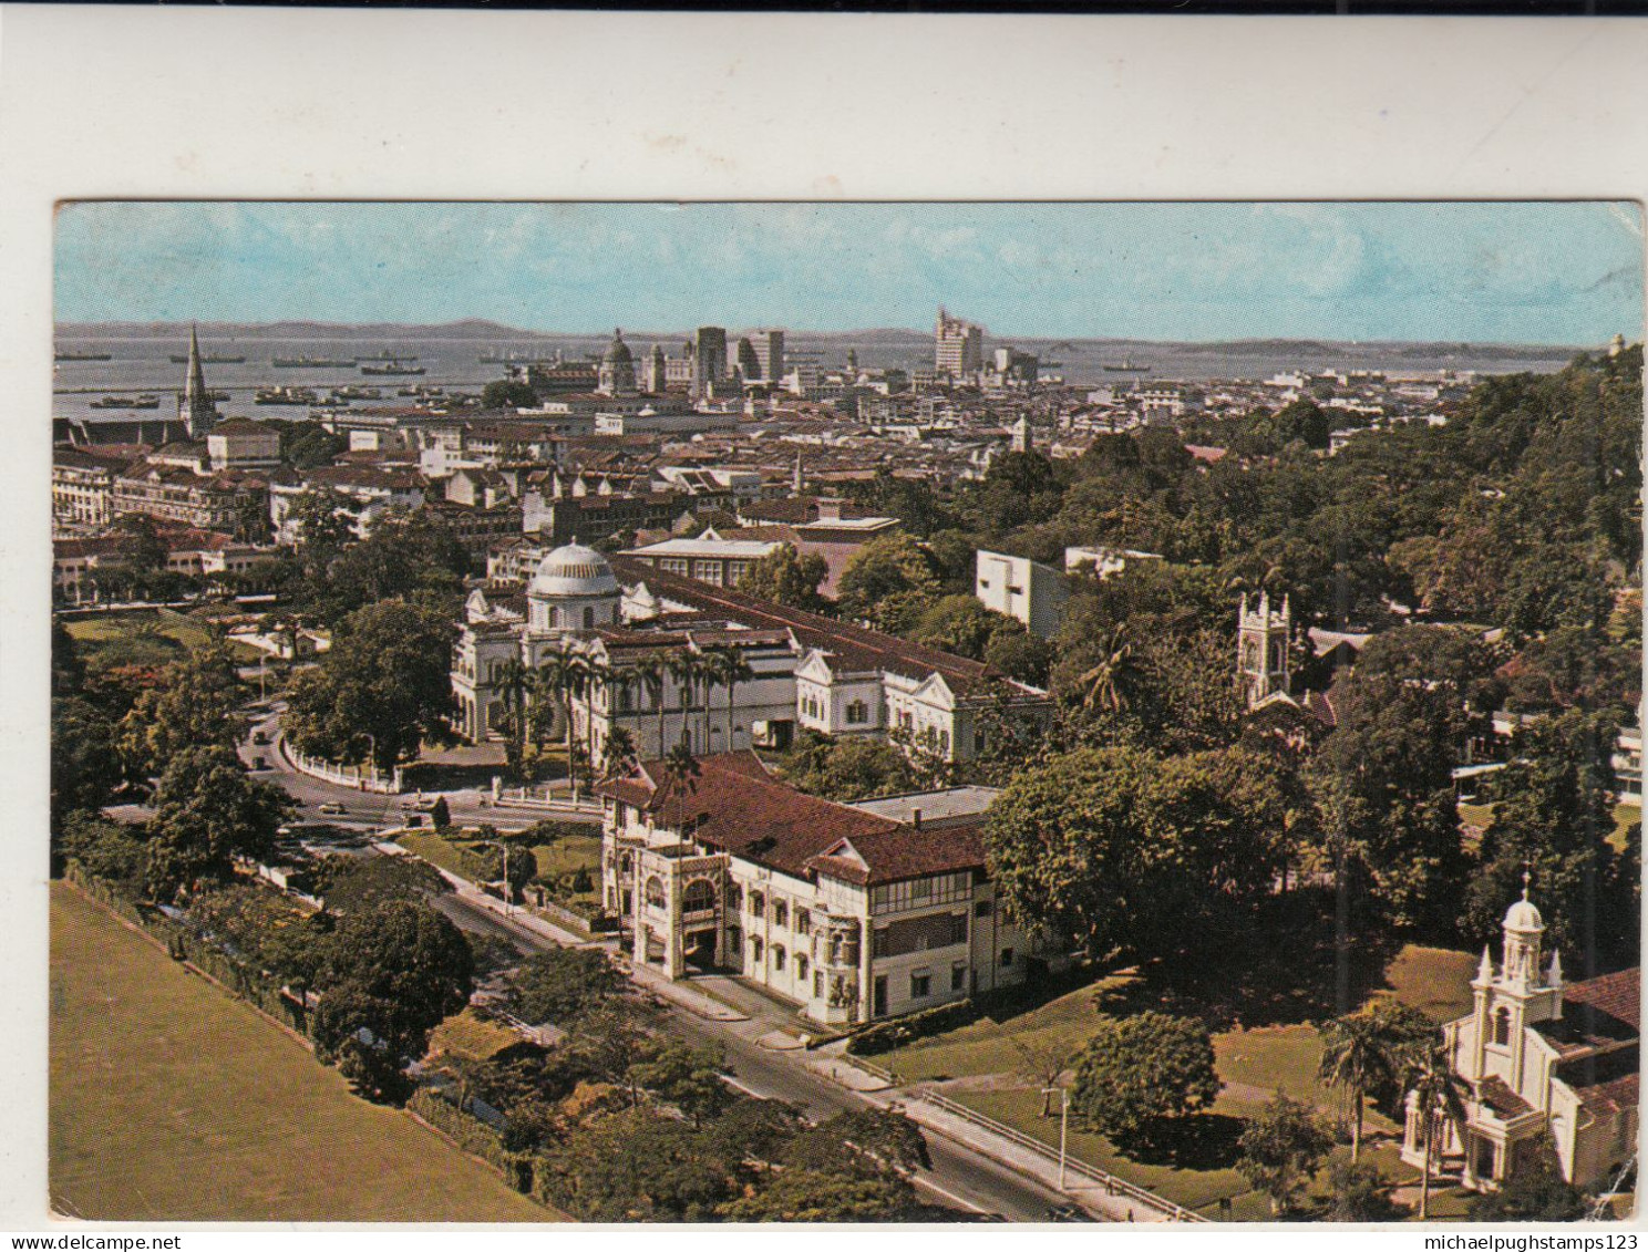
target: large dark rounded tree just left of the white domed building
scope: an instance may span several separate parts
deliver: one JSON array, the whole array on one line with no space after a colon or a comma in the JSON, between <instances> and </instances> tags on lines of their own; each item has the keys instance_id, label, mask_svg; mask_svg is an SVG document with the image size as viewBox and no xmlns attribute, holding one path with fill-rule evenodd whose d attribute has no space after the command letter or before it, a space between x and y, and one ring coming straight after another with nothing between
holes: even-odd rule
<instances>
[{"instance_id":1,"label":"large dark rounded tree just left of the white domed building","mask_svg":"<svg viewBox=\"0 0 1648 1252\"><path fill-rule=\"evenodd\" d=\"M351 613L320 666L287 692L287 735L307 753L366 756L381 771L450 735L453 626L402 600Z\"/></svg>"}]
</instances>

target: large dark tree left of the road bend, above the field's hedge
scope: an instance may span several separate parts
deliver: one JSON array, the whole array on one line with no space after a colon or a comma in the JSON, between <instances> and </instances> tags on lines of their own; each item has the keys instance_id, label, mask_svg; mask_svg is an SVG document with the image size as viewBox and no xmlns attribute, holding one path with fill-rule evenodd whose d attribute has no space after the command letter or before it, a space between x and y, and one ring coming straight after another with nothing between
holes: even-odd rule
<instances>
[{"instance_id":1,"label":"large dark tree left of the road bend, above the field's hedge","mask_svg":"<svg viewBox=\"0 0 1648 1252\"><path fill-rule=\"evenodd\" d=\"M145 881L171 901L199 880L224 880L236 855L265 858L290 807L283 791L247 776L234 748L173 753L155 789Z\"/></svg>"}]
</instances>

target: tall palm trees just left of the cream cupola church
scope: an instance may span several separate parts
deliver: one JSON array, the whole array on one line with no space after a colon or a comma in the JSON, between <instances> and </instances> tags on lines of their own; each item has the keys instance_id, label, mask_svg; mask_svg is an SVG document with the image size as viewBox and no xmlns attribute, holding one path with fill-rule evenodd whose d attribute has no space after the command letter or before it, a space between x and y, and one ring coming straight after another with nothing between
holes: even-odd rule
<instances>
[{"instance_id":1,"label":"tall palm trees just left of the cream cupola church","mask_svg":"<svg viewBox=\"0 0 1648 1252\"><path fill-rule=\"evenodd\" d=\"M1401 1094L1419 1109L1426 1147L1419 1180L1419 1216L1429 1216L1430 1176L1444 1133L1465 1120L1470 1089L1454 1072L1435 1025L1424 1013L1394 1000L1374 1000L1322 1026L1322 1064L1317 1077L1353 1100L1350 1156L1361 1156L1363 1110L1368 1096Z\"/></svg>"}]
</instances>

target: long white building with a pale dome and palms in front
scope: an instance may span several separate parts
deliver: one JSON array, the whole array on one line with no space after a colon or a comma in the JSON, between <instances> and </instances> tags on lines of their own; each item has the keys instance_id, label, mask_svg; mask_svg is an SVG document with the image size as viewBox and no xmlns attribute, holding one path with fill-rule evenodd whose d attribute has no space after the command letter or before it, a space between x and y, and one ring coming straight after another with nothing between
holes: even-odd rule
<instances>
[{"instance_id":1,"label":"long white building with a pale dome and palms in front","mask_svg":"<svg viewBox=\"0 0 1648 1252\"><path fill-rule=\"evenodd\" d=\"M992 717L1051 715L1045 692L977 661L577 544L542 557L524 596L471 593L465 616L452 685L470 740L501 733L509 662L539 669L559 651L597 674L572 700L597 759L615 726L643 758L682 740L695 753L786 748L801 726L971 759ZM742 661L732 682L714 669L728 656Z\"/></svg>"}]
</instances>

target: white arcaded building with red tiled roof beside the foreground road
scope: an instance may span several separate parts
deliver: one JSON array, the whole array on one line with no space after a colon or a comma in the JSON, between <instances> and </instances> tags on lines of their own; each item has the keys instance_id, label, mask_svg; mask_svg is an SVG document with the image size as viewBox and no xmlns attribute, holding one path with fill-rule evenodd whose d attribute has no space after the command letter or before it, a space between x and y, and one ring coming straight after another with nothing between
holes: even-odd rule
<instances>
[{"instance_id":1,"label":"white arcaded building with red tiled roof beside the foreground road","mask_svg":"<svg viewBox=\"0 0 1648 1252\"><path fill-rule=\"evenodd\" d=\"M979 837L989 787L847 806L753 753L598 787L602 891L636 964L732 970L827 1026L1022 982L1042 960L997 909Z\"/></svg>"}]
</instances>

